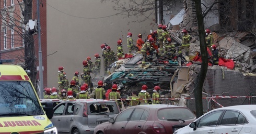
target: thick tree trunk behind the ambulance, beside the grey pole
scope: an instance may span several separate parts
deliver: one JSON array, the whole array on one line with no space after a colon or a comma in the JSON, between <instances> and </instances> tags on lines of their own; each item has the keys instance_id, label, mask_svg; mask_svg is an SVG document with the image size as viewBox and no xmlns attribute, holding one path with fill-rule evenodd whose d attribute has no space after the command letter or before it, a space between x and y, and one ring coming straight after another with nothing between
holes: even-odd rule
<instances>
[{"instance_id":1,"label":"thick tree trunk behind the ambulance, beside the grey pole","mask_svg":"<svg viewBox=\"0 0 256 134\"><path fill-rule=\"evenodd\" d=\"M29 19L32 19L32 0L23 0L25 3L24 12L24 25L29 22ZM30 70L29 78L34 87L37 83L37 71L36 71L36 56L34 55L34 38L32 33L25 31L24 44L25 44L25 67L27 70Z\"/></svg>"}]
</instances>

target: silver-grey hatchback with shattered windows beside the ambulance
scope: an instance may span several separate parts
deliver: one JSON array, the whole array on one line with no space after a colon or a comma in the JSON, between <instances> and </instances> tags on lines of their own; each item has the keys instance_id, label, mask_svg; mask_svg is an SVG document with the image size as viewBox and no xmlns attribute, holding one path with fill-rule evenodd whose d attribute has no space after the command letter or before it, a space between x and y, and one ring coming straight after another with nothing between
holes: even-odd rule
<instances>
[{"instance_id":1,"label":"silver-grey hatchback with shattered windows beside the ambulance","mask_svg":"<svg viewBox=\"0 0 256 134\"><path fill-rule=\"evenodd\" d=\"M58 133L94 133L94 128L120 113L115 101L72 100L54 107L52 123Z\"/></svg>"}]
</instances>

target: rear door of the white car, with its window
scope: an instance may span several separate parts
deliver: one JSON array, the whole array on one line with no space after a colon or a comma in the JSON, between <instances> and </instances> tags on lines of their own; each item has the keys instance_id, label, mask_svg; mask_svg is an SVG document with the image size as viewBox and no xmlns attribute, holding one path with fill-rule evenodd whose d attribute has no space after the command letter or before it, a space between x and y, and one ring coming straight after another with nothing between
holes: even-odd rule
<instances>
[{"instance_id":1,"label":"rear door of the white car, with its window","mask_svg":"<svg viewBox=\"0 0 256 134\"><path fill-rule=\"evenodd\" d=\"M238 111L227 110L216 127L215 133L239 133L243 127L243 123L247 122L246 117Z\"/></svg>"}]
</instances>

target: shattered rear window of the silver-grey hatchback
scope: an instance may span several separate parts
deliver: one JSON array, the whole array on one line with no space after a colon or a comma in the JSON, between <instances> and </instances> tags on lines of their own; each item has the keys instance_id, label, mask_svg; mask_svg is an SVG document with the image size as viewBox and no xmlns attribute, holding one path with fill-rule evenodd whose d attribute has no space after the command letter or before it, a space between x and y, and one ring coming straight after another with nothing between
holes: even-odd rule
<instances>
[{"instance_id":1,"label":"shattered rear window of the silver-grey hatchback","mask_svg":"<svg viewBox=\"0 0 256 134\"><path fill-rule=\"evenodd\" d=\"M88 115L100 115L100 114L118 114L118 108L115 102L104 103L88 103Z\"/></svg>"}]
</instances>

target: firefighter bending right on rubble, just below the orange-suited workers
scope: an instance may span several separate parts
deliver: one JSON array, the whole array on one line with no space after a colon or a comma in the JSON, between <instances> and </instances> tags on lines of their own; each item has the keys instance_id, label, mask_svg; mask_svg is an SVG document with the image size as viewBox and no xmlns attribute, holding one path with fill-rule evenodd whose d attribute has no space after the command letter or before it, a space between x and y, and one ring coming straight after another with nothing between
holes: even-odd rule
<instances>
[{"instance_id":1,"label":"firefighter bending right on rubble, just below the orange-suited workers","mask_svg":"<svg viewBox=\"0 0 256 134\"><path fill-rule=\"evenodd\" d=\"M153 52L151 45L154 43L154 38L150 37L148 40L146 39L146 42L144 43L142 49L141 49L141 53L143 55L143 59L142 59L142 68L144 68L146 65L146 57L147 57L147 51L149 51L150 53Z\"/></svg>"}]
</instances>

